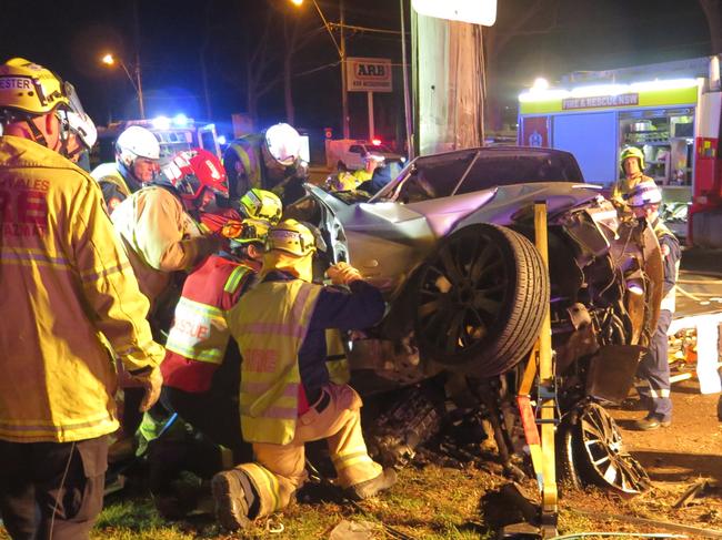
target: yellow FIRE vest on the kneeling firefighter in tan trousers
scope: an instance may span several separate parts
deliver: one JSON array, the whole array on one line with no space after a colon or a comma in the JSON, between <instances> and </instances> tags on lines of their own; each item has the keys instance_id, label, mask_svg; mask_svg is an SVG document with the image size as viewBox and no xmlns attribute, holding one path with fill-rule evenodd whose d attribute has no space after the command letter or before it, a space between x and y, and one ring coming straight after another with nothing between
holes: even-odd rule
<instances>
[{"instance_id":1,"label":"yellow FIRE vest on the kneeling firefighter in tan trousers","mask_svg":"<svg viewBox=\"0 0 722 540\"><path fill-rule=\"evenodd\" d=\"M322 286L262 282L228 313L241 365L241 429L249 442L293 439L302 391L298 354Z\"/></svg>"}]
</instances>

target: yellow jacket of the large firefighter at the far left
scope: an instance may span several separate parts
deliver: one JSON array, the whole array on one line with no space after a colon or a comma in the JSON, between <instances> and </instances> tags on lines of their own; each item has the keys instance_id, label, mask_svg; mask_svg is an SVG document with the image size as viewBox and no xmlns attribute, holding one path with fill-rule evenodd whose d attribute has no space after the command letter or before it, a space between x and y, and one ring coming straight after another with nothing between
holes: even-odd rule
<instances>
[{"instance_id":1,"label":"yellow jacket of the large firefighter at the far left","mask_svg":"<svg viewBox=\"0 0 722 540\"><path fill-rule=\"evenodd\" d=\"M160 364L163 349L98 184L44 146L0 136L0 439L114 431L103 344L131 371Z\"/></svg>"}]
</instances>

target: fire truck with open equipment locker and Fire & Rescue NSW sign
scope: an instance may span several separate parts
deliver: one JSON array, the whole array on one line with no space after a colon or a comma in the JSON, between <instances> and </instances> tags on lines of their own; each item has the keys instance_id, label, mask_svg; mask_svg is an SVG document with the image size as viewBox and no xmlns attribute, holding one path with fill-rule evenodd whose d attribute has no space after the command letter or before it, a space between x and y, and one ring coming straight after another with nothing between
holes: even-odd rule
<instances>
[{"instance_id":1,"label":"fire truck with open equipment locker and Fire & Rescue NSW sign","mask_svg":"<svg viewBox=\"0 0 722 540\"><path fill-rule=\"evenodd\" d=\"M642 150L665 221L688 245L722 247L720 55L571 73L519 96L518 142L572 152L588 182L610 186L625 146Z\"/></svg>"}]
</instances>

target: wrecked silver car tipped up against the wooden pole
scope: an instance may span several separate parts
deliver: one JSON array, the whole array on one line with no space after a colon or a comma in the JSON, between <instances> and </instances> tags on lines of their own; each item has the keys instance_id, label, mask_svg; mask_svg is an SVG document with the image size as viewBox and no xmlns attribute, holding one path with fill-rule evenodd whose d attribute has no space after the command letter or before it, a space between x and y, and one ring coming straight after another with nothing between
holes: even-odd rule
<instances>
[{"instance_id":1,"label":"wrecked silver car tipped up against the wooden pole","mask_svg":"<svg viewBox=\"0 0 722 540\"><path fill-rule=\"evenodd\" d=\"M626 396L654 329L659 244L583 182L571 154L470 149L418 157L373 196L307 192L285 216L318 225L325 263L348 261L389 303L348 344L362 395L404 389L378 417L371 446L387 461L408 459L453 400L480 407L504 463L523 469L514 398L550 304L561 469L622 493L648 487L599 404ZM538 201L548 207L549 273L533 244Z\"/></svg>"}]
</instances>

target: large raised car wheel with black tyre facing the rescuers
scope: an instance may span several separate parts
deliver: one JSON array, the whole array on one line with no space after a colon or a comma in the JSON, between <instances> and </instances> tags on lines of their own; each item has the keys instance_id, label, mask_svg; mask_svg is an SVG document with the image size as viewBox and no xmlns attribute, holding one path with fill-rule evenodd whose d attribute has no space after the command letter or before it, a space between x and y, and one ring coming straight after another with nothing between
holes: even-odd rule
<instances>
[{"instance_id":1,"label":"large raised car wheel with black tyre facing the rescuers","mask_svg":"<svg viewBox=\"0 0 722 540\"><path fill-rule=\"evenodd\" d=\"M424 358L492 377L530 350L549 304L540 253L514 231L464 227L420 268L417 337Z\"/></svg>"}]
</instances>

